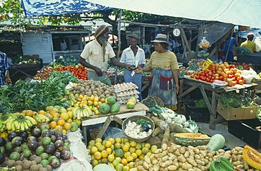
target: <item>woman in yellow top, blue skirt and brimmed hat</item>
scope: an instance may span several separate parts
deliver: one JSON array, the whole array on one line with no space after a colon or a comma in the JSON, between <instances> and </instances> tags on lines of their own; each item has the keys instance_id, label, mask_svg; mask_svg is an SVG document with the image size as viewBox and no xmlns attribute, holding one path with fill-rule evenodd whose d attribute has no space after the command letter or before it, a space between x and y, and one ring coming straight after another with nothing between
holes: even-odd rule
<instances>
[{"instance_id":1,"label":"woman in yellow top, blue skirt and brimmed hat","mask_svg":"<svg viewBox=\"0 0 261 171\"><path fill-rule=\"evenodd\" d=\"M152 71L149 95L161 98L166 106L176 105L176 94L179 89L176 55L168 50L166 35L158 34L152 42L155 52L152 53L147 67L138 68L136 72Z\"/></svg>"}]
</instances>

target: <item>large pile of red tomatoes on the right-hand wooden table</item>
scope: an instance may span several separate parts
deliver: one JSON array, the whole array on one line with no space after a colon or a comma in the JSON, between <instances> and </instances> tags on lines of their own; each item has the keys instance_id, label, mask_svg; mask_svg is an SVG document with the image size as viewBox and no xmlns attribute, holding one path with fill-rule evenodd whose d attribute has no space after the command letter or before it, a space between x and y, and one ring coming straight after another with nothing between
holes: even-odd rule
<instances>
[{"instance_id":1,"label":"large pile of red tomatoes on the right-hand wooden table","mask_svg":"<svg viewBox=\"0 0 261 171\"><path fill-rule=\"evenodd\" d=\"M190 75L187 73L187 75ZM201 72L195 72L190 75L190 78L206 81L207 83L213 83L214 80L226 81L227 86L236 86L236 84L245 83L244 78L241 76L241 72L236 69L233 64L227 62L213 64L210 69L202 70Z\"/></svg>"}]
</instances>

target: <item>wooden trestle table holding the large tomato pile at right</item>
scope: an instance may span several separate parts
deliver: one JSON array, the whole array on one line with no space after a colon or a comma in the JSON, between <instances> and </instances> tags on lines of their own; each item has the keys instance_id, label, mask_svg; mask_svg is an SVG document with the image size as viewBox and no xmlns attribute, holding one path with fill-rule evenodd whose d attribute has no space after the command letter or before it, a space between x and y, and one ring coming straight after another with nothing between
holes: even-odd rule
<instances>
[{"instance_id":1,"label":"wooden trestle table holding the large tomato pile at right","mask_svg":"<svg viewBox=\"0 0 261 171\"><path fill-rule=\"evenodd\" d=\"M196 88L200 88L200 92L203 95L203 98L207 104L207 108L210 111L210 129L215 129L216 124L224 122L225 119L217 114L217 102L218 98L220 97L221 93L226 93L229 91L239 90L241 93L245 93L245 89L248 90L255 90L256 83L248 83L243 85L236 85L232 87L225 87L225 88L212 88L211 83L207 83L205 81L196 80L193 78L183 78L180 80L180 92L178 95L178 111L181 109L181 99L188 95L190 92L195 90ZM184 86L188 86L189 88L183 91ZM212 92L212 102L207 98L207 93L205 90Z\"/></svg>"}]
</instances>

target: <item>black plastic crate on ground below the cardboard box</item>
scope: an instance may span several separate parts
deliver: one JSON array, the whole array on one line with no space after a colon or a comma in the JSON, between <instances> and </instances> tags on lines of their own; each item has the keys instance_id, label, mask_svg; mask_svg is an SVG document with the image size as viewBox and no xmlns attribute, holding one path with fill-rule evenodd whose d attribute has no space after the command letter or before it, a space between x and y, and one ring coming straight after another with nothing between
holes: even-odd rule
<instances>
[{"instance_id":1,"label":"black plastic crate on ground below the cardboard box","mask_svg":"<svg viewBox=\"0 0 261 171\"><path fill-rule=\"evenodd\" d=\"M260 119L247 119L229 121L229 133L240 138L254 148L261 148L261 131L255 130L256 126L261 126Z\"/></svg>"}]
</instances>

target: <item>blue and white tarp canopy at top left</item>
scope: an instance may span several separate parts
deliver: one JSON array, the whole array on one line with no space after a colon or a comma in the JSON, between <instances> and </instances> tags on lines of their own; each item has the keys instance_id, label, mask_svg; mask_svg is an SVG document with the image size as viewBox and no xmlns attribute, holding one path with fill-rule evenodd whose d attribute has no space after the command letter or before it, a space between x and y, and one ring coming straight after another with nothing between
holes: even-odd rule
<instances>
[{"instance_id":1,"label":"blue and white tarp canopy at top left","mask_svg":"<svg viewBox=\"0 0 261 171\"><path fill-rule=\"evenodd\" d=\"M111 9L85 0L22 0L22 6L26 17L59 16Z\"/></svg>"}]
</instances>

